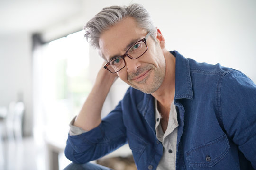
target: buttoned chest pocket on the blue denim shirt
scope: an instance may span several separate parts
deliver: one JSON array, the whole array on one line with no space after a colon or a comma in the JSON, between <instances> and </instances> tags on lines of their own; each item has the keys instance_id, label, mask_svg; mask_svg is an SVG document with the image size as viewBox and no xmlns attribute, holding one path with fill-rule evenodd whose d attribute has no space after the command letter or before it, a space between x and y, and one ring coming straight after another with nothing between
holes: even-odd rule
<instances>
[{"instance_id":1,"label":"buttoned chest pocket on the blue denim shirt","mask_svg":"<svg viewBox=\"0 0 256 170\"><path fill-rule=\"evenodd\" d=\"M189 167L212 167L225 157L229 148L225 134L214 141L192 148L186 152Z\"/></svg>"}]
</instances>

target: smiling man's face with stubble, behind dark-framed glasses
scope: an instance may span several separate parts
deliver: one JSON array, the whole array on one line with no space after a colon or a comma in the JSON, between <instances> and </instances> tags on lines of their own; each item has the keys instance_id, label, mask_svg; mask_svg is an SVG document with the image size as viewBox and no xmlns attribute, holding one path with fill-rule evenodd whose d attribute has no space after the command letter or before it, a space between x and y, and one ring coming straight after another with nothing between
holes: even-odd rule
<instances>
[{"instance_id":1,"label":"smiling man's face with stubble, behind dark-framed glasses","mask_svg":"<svg viewBox=\"0 0 256 170\"><path fill-rule=\"evenodd\" d=\"M123 55L129 45L143 39L146 34L146 30L138 28L135 20L128 17L103 32L99 39L100 50L105 59L110 61L113 56ZM164 80L165 58L158 39L155 42L149 36L146 44L146 53L138 59L125 57L126 66L117 74L128 85L150 94L154 93Z\"/></svg>"}]
</instances>

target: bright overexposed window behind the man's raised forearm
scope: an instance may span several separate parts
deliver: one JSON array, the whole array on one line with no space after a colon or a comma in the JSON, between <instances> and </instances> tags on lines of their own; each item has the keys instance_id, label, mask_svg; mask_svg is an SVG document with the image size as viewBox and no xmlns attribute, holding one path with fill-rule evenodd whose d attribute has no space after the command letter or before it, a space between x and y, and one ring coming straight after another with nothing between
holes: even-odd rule
<instances>
[{"instance_id":1,"label":"bright overexposed window behind the man's raised forearm","mask_svg":"<svg viewBox=\"0 0 256 170\"><path fill-rule=\"evenodd\" d=\"M45 125L67 125L91 90L89 47L83 31L49 42L42 47L39 62L38 96L45 112Z\"/></svg>"}]
</instances>

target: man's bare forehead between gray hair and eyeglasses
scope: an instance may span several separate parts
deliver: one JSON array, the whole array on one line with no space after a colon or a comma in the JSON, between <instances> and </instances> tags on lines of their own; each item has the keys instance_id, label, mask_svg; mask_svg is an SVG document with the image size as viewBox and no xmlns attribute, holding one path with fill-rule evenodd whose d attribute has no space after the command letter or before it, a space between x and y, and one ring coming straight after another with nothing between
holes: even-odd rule
<instances>
[{"instance_id":1,"label":"man's bare forehead between gray hair and eyeglasses","mask_svg":"<svg viewBox=\"0 0 256 170\"><path fill-rule=\"evenodd\" d=\"M112 56L123 55L127 50L127 45L143 38L145 33L146 30L137 27L135 20L128 17L101 34L100 51L108 61Z\"/></svg>"}]
</instances>

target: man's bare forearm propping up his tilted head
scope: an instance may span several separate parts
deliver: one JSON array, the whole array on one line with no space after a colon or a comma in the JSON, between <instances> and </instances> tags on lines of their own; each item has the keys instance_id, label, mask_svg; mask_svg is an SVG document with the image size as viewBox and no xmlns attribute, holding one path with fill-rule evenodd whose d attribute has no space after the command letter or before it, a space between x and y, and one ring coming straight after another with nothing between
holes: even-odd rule
<instances>
[{"instance_id":1,"label":"man's bare forearm propping up his tilted head","mask_svg":"<svg viewBox=\"0 0 256 170\"><path fill-rule=\"evenodd\" d=\"M101 109L116 77L104 69L98 72L95 84L76 117L74 126L89 131L101 123Z\"/></svg>"}]
</instances>

